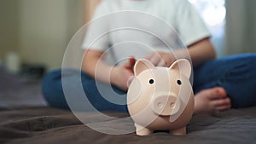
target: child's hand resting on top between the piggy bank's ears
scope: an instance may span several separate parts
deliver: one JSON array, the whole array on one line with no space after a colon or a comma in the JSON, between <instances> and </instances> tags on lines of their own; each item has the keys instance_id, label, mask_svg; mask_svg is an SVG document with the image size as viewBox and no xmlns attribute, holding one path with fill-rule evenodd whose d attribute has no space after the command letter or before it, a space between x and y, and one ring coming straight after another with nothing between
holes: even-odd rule
<instances>
[{"instance_id":1,"label":"child's hand resting on top between the piggy bank's ears","mask_svg":"<svg viewBox=\"0 0 256 144\"><path fill-rule=\"evenodd\" d=\"M166 52L153 52L145 57L147 60L151 61L154 66L165 66L169 67L175 61L174 55L172 53Z\"/></svg>"}]
</instances>

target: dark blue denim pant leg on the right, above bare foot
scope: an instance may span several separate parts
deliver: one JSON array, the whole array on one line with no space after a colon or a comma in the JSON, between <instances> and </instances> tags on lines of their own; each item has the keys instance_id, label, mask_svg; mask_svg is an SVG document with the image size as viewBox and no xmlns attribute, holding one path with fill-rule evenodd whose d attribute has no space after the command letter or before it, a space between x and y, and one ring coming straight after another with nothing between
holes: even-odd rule
<instances>
[{"instance_id":1,"label":"dark blue denim pant leg on the right, above bare foot","mask_svg":"<svg viewBox=\"0 0 256 144\"><path fill-rule=\"evenodd\" d=\"M223 87L232 107L256 104L256 54L231 55L195 68L195 94L201 89Z\"/></svg>"}]
</instances>

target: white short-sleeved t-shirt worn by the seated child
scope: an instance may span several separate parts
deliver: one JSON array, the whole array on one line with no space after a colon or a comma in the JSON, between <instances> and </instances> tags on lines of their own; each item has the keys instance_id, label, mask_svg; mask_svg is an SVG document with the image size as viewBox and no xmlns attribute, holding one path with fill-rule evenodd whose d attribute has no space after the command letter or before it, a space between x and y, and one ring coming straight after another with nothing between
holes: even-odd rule
<instances>
[{"instance_id":1,"label":"white short-sleeved t-shirt worn by the seated child","mask_svg":"<svg viewBox=\"0 0 256 144\"><path fill-rule=\"evenodd\" d=\"M114 64L131 55L186 48L210 35L187 0L103 0L82 47L106 52Z\"/></svg>"}]
</instances>

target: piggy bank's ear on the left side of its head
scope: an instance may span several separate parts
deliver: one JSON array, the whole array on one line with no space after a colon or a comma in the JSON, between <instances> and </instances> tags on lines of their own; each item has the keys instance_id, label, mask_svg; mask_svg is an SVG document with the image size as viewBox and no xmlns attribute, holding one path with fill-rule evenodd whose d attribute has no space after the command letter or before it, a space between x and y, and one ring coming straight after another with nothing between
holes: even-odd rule
<instances>
[{"instance_id":1,"label":"piggy bank's ear on the left side of its head","mask_svg":"<svg viewBox=\"0 0 256 144\"><path fill-rule=\"evenodd\" d=\"M155 66L146 59L137 60L135 66L134 66L134 75L137 76L141 72L147 70L147 69L154 69Z\"/></svg>"}]
</instances>

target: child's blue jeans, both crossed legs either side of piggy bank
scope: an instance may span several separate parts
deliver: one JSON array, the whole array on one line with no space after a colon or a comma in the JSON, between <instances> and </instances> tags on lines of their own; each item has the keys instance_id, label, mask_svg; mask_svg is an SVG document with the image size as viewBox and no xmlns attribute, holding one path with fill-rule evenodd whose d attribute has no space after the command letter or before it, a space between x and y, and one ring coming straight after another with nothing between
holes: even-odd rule
<instances>
[{"instance_id":1,"label":"child's blue jeans, both crossed legs either side of piggy bank","mask_svg":"<svg viewBox=\"0 0 256 144\"><path fill-rule=\"evenodd\" d=\"M102 97L96 83L109 88L108 84L96 82L86 73L74 69L63 69L49 72L43 81L43 94L49 106L69 109L63 93L61 80L77 81L81 77L84 92L90 103L99 111L128 112L127 106L114 104ZM232 55L221 59L209 61L194 68L195 94L202 89L223 87L231 99L232 107L250 107L256 104L256 54ZM125 95L114 86L116 93ZM116 97L126 101L126 96ZM115 99L115 98L114 98ZM74 100L75 101L75 100Z\"/></svg>"}]
</instances>

